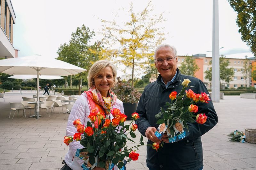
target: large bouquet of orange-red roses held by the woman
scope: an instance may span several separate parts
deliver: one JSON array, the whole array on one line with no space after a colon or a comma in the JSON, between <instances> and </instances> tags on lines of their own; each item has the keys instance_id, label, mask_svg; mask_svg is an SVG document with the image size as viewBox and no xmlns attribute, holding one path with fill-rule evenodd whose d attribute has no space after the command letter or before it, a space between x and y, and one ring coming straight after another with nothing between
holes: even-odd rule
<instances>
[{"instance_id":1,"label":"large bouquet of orange-red roses held by the woman","mask_svg":"<svg viewBox=\"0 0 256 170\"><path fill-rule=\"evenodd\" d=\"M126 144L127 140L135 143L127 135L130 134L132 138L136 137L134 131L138 126L132 122L139 118L138 113L132 114L132 122L127 125L124 124L127 116L122 114L119 109L113 108L111 114L114 117L112 120L110 120L110 114L105 115L96 107L88 116L91 122L87 122L85 126L81 124L80 119L75 120L73 125L76 126L77 133L74 136L64 137L64 143L67 145L76 140L84 146L84 149L78 149L76 153L77 157L82 157L85 160L83 166L86 165L87 168L84 169L89 169L88 165L91 169L97 166L112 170L114 165L122 169L125 157L129 157L128 162L138 160L139 153L134 152L132 148L144 145L143 137L140 137L138 145L129 149Z\"/></svg>"}]
</instances>

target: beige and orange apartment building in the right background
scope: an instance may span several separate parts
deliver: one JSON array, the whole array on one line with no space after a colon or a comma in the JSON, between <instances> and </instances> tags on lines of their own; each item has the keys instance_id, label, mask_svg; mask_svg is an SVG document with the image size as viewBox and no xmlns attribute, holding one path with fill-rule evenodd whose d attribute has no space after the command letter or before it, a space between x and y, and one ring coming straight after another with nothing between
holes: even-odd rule
<instances>
[{"instance_id":1,"label":"beige and orange apartment building in the right background","mask_svg":"<svg viewBox=\"0 0 256 170\"><path fill-rule=\"evenodd\" d=\"M196 60L196 64L199 67L199 70L195 73L195 77L199 78L204 82L207 88L211 88L211 82L208 79L205 79L205 71L209 70L212 65L209 65L209 62L212 60L212 57L206 57L205 54L196 54L192 56ZM178 67L181 66L181 63L184 62L186 56L178 56ZM247 84L247 87L254 86L256 88L256 81L253 81L251 76L248 76L245 80L245 76L243 74L244 69L244 60L242 58L227 58L229 60L229 68L234 69L234 77L229 82L229 85L226 85L225 82L222 84L222 87L227 86L228 88L238 88L238 87L245 87L245 84ZM256 60L254 57L248 58L250 60L250 64L252 66L255 66L252 68L252 70L256 69ZM246 83L245 83L246 81Z\"/></svg>"}]
</instances>

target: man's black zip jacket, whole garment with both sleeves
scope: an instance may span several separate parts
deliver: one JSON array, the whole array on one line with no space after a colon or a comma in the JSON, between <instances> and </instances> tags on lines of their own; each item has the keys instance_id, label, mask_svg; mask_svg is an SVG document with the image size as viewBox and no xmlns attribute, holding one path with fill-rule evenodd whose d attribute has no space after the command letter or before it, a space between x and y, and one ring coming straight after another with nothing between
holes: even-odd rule
<instances>
[{"instance_id":1,"label":"man's black zip jacket, whole garment with both sleeves","mask_svg":"<svg viewBox=\"0 0 256 170\"><path fill-rule=\"evenodd\" d=\"M169 94L172 91L179 93L182 89L180 85L184 79L188 78L194 86L191 88L195 93L205 92L209 94L204 83L195 77L180 74L177 68L177 76L174 81L166 88L161 81L161 75L157 81L150 83L144 89L136 112L140 118L135 122L138 125L140 133L145 136L148 127L157 127L155 115L160 112L160 107L166 109L165 103L170 102ZM180 80L180 81L179 81ZM211 99L211 98L210 98ZM163 148L158 152L147 146L147 166L154 170L178 170L189 169L198 170L203 167L203 148L201 136L212 129L218 121L216 111L212 101L209 103L197 103L198 112L207 115L207 121L204 124L188 123L189 136L175 143L164 143ZM152 141L148 140L148 144Z\"/></svg>"}]
</instances>

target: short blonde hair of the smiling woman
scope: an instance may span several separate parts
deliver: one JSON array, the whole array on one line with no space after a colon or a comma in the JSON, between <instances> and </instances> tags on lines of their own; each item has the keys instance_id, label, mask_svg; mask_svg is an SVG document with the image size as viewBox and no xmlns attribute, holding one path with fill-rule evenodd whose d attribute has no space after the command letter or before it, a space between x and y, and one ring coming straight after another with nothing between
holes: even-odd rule
<instances>
[{"instance_id":1,"label":"short blonde hair of the smiling woman","mask_svg":"<svg viewBox=\"0 0 256 170\"><path fill-rule=\"evenodd\" d=\"M113 86L116 85L116 81L117 81L116 80L116 74L117 74L116 66L108 60L100 60L100 61L97 61L94 64L92 64L92 67L90 68L90 70L88 72L87 80L88 80L89 87L92 87L95 85L95 83L94 83L95 76L97 76L100 73L100 71L102 69L105 69L106 67L110 67L112 69L113 77L114 77Z\"/></svg>"}]
</instances>

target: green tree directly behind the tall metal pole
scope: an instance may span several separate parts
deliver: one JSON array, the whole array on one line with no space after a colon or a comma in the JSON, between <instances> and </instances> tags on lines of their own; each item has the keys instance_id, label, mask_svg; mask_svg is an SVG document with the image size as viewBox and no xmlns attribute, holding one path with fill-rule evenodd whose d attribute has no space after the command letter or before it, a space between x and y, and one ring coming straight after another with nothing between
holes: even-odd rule
<instances>
[{"instance_id":1,"label":"green tree directly behind the tall metal pole","mask_svg":"<svg viewBox=\"0 0 256 170\"><path fill-rule=\"evenodd\" d=\"M209 65L212 65L212 60L209 62ZM224 82L228 85L231 81L232 77L235 74L235 71L233 68L228 68L229 60L226 59L224 55L221 55L220 57L220 80L222 80L222 83ZM204 71L205 79L208 79L210 82L212 81L212 67L209 70Z\"/></svg>"}]
</instances>

